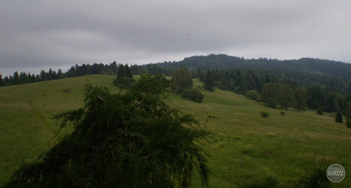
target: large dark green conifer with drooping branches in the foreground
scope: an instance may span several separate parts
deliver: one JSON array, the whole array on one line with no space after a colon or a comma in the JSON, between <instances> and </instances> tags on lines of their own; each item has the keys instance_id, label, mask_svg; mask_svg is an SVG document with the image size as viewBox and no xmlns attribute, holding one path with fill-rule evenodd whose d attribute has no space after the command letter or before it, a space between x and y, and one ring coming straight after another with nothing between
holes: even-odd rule
<instances>
[{"instance_id":1,"label":"large dark green conifer with drooping branches in the foreground","mask_svg":"<svg viewBox=\"0 0 351 188\"><path fill-rule=\"evenodd\" d=\"M195 140L210 133L164 103L169 85L149 74L126 94L86 85L83 107L54 116L74 131L5 187L188 187L194 170L207 186L206 154Z\"/></svg>"}]
</instances>

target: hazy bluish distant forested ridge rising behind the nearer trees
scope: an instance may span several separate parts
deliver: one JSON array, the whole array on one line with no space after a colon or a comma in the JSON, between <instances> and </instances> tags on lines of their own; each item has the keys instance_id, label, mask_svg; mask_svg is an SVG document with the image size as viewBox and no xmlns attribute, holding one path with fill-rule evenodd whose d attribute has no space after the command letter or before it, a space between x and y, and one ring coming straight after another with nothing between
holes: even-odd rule
<instances>
[{"instance_id":1,"label":"hazy bluish distant forested ridge rising behind the nearer trees","mask_svg":"<svg viewBox=\"0 0 351 188\"><path fill-rule=\"evenodd\" d=\"M157 63L160 67L201 69L227 69L227 68L250 68L250 69L280 69L296 72L307 72L335 76L341 79L351 80L351 64L314 58L301 58L298 60L277 59L245 59L226 54L196 55L186 57L178 62ZM146 68L145 65L144 68Z\"/></svg>"}]
</instances>

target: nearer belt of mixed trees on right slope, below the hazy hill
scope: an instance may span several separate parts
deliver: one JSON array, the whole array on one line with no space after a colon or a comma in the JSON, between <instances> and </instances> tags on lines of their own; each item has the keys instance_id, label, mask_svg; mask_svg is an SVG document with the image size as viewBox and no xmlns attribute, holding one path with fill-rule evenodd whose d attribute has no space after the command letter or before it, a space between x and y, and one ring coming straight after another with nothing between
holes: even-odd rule
<instances>
[{"instance_id":1,"label":"nearer belt of mixed trees on right slope, below the hazy hill","mask_svg":"<svg viewBox=\"0 0 351 188\"><path fill-rule=\"evenodd\" d=\"M256 91L260 99L271 107L279 104L283 108L295 107L297 110L321 107L325 112L345 112L348 103L351 103L351 93L347 92L350 90L350 82L345 88L338 90L331 89L335 85L301 85L295 80L262 75L252 70L245 72L238 68L207 70L207 72L212 74L217 88L242 95ZM204 71L200 73L199 80L206 81ZM305 104L300 102L294 106L302 97Z\"/></svg>"}]
</instances>

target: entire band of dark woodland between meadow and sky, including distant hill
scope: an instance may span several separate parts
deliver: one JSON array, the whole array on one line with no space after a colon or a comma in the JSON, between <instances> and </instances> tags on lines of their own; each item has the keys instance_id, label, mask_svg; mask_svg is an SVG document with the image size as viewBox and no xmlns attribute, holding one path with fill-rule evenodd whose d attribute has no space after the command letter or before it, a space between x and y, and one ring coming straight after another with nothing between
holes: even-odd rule
<instances>
[{"instance_id":1,"label":"entire band of dark woodland between meadow and sky, including distant hill","mask_svg":"<svg viewBox=\"0 0 351 188\"><path fill-rule=\"evenodd\" d=\"M179 62L163 62L146 65L128 66L117 62L104 65L94 63L72 66L66 72L59 69L40 71L39 75L17 71L13 76L0 76L0 85L19 85L41 81L77 77L89 74L118 75L120 68L130 70L131 74L162 73L172 76L179 67L186 68L192 74L192 78L199 79L208 86L206 79L211 77L214 86L218 89L231 90L237 94L257 92L261 95L260 100L272 107L293 107L298 110L318 109L325 112L346 113L347 106L351 102L351 64L312 58L299 60L277 59L245 59L225 54L210 54L207 56L187 57ZM210 89L214 90L214 86ZM266 89L264 89L266 87ZM273 100L265 99L267 88L272 91L269 94ZM283 91L290 91L291 95L297 95L297 91L306 92L306 106L298 107L297 99L286 99L290 102L286 106L279 103ZM301 90L302 88L302 90ZM207 89L207 88L205 88ZM288 92L289 93L289 92ZM263 95L262 95L263 94Z\"/></svg>"}]
</instances>

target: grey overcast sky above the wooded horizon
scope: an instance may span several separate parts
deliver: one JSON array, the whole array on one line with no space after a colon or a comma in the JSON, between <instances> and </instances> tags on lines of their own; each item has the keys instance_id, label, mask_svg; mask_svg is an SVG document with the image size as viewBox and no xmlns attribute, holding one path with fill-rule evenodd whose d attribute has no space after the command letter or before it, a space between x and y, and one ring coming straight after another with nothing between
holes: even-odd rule
<instances>
[{"instance_id":1,"label":"grey overcast sky above the wooded horizon","mask_svg":"<svg viewBox=\"0 0 351 188\"><path fill-rule=\"evenodd\" d=\"M1 0L0 72L225 53L351 63L351 0Z\"/></svg>"}]
</instances>

